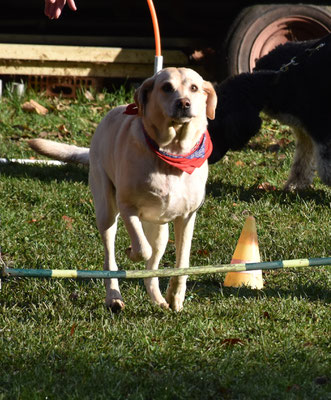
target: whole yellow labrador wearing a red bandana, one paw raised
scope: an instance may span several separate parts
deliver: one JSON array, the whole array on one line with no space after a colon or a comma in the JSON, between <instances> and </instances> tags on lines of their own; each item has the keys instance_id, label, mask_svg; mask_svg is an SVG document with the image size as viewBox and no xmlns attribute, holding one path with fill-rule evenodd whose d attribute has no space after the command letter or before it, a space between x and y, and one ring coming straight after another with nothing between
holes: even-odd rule
<instances>
[{"instance_id":1,"label":"whole yellow labrador wearing a red bandana, one paw raised","mask_svg":"<svg viewBox=\"0 0 331 400\"><path fill-rule=\"evenodd\" d=\"M212 145L207 117L217 97L212 85L187 68L166 68L145 80L135 105L112 109L101 121L90 150L34 139L30 146L63 161L90 164L89 182L105 248L105 270L117 270L115 233L120 214L131 239L128 255L158 268L174 222L176 267L189 267L196 210L204 200ZM171 278L166 298L158 278L145 279L153 303L179 311L186 276ZM106 305L121 310L117 279L107 279Z\"/></svg>"}]
</instances>

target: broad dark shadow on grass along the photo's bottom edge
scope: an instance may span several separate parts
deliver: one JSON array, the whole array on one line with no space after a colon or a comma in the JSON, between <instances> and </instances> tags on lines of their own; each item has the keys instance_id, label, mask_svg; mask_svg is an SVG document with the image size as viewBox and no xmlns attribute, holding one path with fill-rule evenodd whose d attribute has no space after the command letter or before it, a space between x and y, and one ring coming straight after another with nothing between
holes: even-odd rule
<instances>
[{"instance_id":1,"label":"broad dark shadow on grass along the photo's bottom edge","mask_svg":"<svg viewBox=\"0 0 331 400\"><path fill-rule=\"evenodd\" d=\"M125 354L123 347L111 343L99 354L84 351L77 341L65 349L41 348L38 354L26 349L19 359L3 365L0 390L3 398L20 399L256 400L326 395L329 380L321 377L323 368L315 354L310 358L304 348L281 348L266 351L263 358L246 352L249 346L221 346L216 354L203 351L203 346L188 351L156 343L146 353L137 343L137 356L131 348ZM145 357L138 355L140 351Z\"/></svg>"}]
</instances>

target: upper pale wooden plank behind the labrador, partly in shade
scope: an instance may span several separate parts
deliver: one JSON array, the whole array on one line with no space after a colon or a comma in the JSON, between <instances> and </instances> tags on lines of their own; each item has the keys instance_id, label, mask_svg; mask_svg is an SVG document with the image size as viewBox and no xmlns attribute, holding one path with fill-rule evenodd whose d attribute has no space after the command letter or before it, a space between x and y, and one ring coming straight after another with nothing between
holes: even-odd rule
<instances>
[{"instance_id":1,"label":"upper pale wooden plank behind the labrador, partly in shade","mask_svg":"<svg viewBox=\"0 0 331 400\"><path fill-rule=\"evenodd\" d=\"M4 60L150 64L154 63L154 54L154 50L120 47L0 43L0 59ZM186 65L188 62L186 55L178 50L165 50L163 57L170 64Z\"/></svg>"}]
</instances>

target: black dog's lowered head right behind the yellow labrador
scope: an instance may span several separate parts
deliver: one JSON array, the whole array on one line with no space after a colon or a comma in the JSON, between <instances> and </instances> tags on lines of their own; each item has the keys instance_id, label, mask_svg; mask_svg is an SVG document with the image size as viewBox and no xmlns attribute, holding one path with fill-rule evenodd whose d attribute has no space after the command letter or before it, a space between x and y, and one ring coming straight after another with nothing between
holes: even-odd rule
<instances>
[{"instance_id":1,"label":"black dog's lowered head right behind the yellow labrador","mask_svg":"<svg viewBox=\"0 0 331 400\"><path fill-rule=\"evenodd\" d=\"M211 164L219 161L228 150L243 148L258 133L262 123L260 112L275 77L276 72L272 71L243 73L215 87L216 117L208 125L214 147L209 158Z\"/></svg>"}]
</instances>

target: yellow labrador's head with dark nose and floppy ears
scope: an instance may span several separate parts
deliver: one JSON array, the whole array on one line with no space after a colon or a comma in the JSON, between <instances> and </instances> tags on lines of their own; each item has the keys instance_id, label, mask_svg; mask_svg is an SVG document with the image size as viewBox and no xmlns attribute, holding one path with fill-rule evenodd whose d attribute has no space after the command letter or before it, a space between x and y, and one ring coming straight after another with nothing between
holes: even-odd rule
<instances>
[{"instance_id":1,"label":"yellow labrador's head with dark nose and floppy ears","mask_svg":"<svg viewBox=\"0 0 331 400\"><path fill-rule=\"evenodd\" d=\"M197 72L165 68L142 83L135 93L135 103L146 129L157 127L160 137L154 139L162 143L169 139L165 136L170 128L178 133L190 125L201 135L207 117L215 117L217 96L212 84Z\"/></svg>"}]
</instances>

